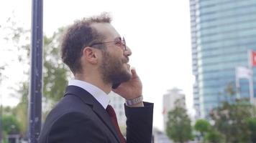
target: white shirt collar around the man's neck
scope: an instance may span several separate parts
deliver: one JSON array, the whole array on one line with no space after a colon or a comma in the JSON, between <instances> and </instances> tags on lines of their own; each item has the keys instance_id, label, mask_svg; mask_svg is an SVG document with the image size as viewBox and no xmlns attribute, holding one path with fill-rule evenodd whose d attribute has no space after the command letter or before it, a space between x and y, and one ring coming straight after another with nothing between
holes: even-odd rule
<instances>
[{"instance_id":1,"label":"white shirt collar around the man's neck","mask_svg":"<svg viewBox=\"0 0 256 143\"><path fill-rule=\"evenodd\" d=\"M104 107L104 109L106 109L109 104L110 99L108 94L106 94L103 90L99 89L99 87L96 87L93 84L74 79L69 81L68 85L73 85L85 89L102 105L102 107Z\"/></svg>"}]
</instances>

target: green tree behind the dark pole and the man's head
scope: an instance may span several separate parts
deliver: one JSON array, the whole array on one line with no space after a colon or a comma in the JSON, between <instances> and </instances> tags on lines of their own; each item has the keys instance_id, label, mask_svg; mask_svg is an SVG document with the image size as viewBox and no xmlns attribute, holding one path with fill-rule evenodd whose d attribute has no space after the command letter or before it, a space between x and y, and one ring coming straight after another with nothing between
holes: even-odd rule
<instances>
[{"instance_id":1,"label":"green tree behind the dark pole and the man's head","mask_svg":"<svg viewBox=\"0 0 256 143\"><path fill-rule=\"evenodd\" d=\"M59 29L52 36L44 36L43 49L43 90L42 90L42 121L45 119L47 113L55 105L58 100L63 97L65 86L68 84L67 74L70 72L68 68L60 60L59 44L60 35L63 29ZM29 50L29 49L27 49ZM29 53L29 51L27 51ZM28 58L28 56L27 56ZM27 63L29 64L29 63ZM29 84L28 81L22 83L19 89L20 102L14 109L14 112L22 122L22 133L27 132L27 109L28 109L28 95Z\"/></svg>"}]
</instances>

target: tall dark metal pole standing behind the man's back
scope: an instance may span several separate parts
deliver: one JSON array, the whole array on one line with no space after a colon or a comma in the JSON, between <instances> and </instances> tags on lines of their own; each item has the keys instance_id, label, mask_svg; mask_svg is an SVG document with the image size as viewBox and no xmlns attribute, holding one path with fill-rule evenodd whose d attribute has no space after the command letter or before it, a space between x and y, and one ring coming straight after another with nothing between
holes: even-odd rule
<instances>
[{"instance_id":1,"label":"tall dark metal pole standing behind the man's back","mask_svg":"<svg viewBox=\"0 0 256 143\"><path fill-rule=\"evenodd\" d=\"M42 0L32 1L29 83L29 143L37 143L42 118Z\"/></svg>"}]
</instances>

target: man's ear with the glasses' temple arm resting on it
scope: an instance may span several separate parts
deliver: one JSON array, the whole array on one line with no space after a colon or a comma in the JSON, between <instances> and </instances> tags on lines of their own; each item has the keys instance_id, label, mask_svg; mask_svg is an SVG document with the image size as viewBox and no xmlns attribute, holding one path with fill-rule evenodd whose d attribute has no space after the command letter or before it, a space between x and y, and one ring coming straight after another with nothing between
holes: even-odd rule
<instances>
[{"instance_id":1,"label":"man's ear with the glasses' temple arm resting on it","mask_svg":"<svg viewBox=\"0 0 256 143\"><path fill-rule=\"evenodd\" d=\"M86 46L83 49L83 58L91 64L97 64L99 61L99 52L95 48Z\"/></svg>"}]
</instances>

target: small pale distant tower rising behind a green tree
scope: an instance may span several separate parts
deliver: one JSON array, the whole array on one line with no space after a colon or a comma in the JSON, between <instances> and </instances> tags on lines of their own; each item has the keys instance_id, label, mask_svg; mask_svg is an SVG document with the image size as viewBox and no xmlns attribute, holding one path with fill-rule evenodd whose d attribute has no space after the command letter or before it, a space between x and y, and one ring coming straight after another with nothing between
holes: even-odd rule
<instances>
[{"instance_id":1,"label":"small pale distant tower rising behind a green tree","mask_svg":"<svg viewBox=\"0 0 256 143\"><path fill-rule=\"evenodd\" d=\"M180 100L175 103L177 100ZM168 112L175 109L176 106L185 107L186 108L186 98L185 94L182 93L180 89L173 88L167 91L166 94L163 95L163 127L164 131L166 129L166 123L168 121Z\"/></svg>"}]
</instances>

